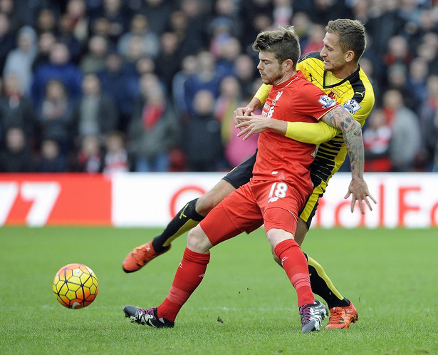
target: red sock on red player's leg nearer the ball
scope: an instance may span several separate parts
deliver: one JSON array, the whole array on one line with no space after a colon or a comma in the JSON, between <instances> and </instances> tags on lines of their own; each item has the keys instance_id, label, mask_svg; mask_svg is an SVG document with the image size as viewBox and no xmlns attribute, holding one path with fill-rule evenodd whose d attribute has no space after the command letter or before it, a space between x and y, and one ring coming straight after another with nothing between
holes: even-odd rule
<instances>
[{"instance_id":1,"label":"red sock on red player's leg nearer the ball","mask_svg":"<svg viewBox=\"0 0 438 355\"><path fill-rule=\"evenodd\" d=\"M170 292L165 301L157 307L158 318L175 320L179 309L187 302L187 299L204 278L209 261L210 253L193 252L189 248L184 250L182 262L179 263Z\"/></svg>"}]
</instances>

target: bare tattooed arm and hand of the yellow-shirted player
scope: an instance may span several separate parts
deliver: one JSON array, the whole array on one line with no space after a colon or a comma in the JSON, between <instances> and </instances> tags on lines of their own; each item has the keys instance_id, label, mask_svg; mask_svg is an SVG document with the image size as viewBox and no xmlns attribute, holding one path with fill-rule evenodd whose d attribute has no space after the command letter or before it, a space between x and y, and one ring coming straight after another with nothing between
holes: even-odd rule
<instances>
[{"instance_id":1,"label":"bare tattooed arm and hand of the yellow-shirted player","mask_svg":"<svg viewBox=\"0 0 438 355\"><path fill-rule=\"evenodd\" d=\"M363 180L364 150L360 123L351 117L350 113L348 113L348 111L342 106L333 108L333 110L330 110L323 115L321 120L334 128L338 128L343 134L345 148L347 148L348 156L350 158L352 175L350 186L348 187L348 192L347 195L345 195L345 198L352 195L351 212L354 210L355 202L358 201L360 212L365 214L365 209L363 207L364 201L370 210L372 210L370 201L367 197L369 197L374 203L376 202L368 191L367 183Z\"/></svg>"}]
</instances>

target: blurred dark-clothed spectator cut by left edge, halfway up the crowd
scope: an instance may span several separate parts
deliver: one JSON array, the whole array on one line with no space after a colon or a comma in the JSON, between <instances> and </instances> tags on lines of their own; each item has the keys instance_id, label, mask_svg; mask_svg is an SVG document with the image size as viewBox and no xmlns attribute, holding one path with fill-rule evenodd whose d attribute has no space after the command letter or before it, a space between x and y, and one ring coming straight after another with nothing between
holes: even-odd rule
<instances>
[{"instance_id":1,"label":"blurred dark-clothed spectator cut by left edge, halfway up the crowd","mask_svg":"<svg viewBox=\"0 0 438 355\"><path fill-rule=\"evenodd\" d=\"M31 99L21 93L20 78L15 73L4 76L3 93L0 98L0 123L3 130L19 127L34 149L38 141L36 114Z\"/></svg>"}]
</instances>

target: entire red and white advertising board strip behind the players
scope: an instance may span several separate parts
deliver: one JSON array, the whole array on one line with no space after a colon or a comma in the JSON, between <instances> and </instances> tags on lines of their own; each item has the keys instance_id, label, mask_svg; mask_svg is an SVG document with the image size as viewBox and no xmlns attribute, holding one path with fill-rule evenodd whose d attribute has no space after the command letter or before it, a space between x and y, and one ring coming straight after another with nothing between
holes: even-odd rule
<instances>
[{"instance_id":1,"label":"entire red and white advertising board strip behind the players","mask_svg":"<svg viewBox=\"0 0 438 355\"><path fill-rule=\"evenodd\" d=\"M0 174L0 226L108 225L164 227L180 208L224 173ZM337 173L312 227L438 227L437 173L367 173L377 200L350 211L351 175Z\"/></svg>"}]
</instances>

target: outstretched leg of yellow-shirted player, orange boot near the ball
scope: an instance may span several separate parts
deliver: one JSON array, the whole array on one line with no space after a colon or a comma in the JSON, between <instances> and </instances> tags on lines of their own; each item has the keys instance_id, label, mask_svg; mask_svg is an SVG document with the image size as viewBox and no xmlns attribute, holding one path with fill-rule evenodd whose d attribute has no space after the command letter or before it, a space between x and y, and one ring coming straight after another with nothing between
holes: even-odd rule
<instances>
[{"instance_id":1,"label":"outstretched leg of yellow-shirted player, orange boot near the ball","mask_svg":"<svg viewBox=\"0 0 438 355\"><path fill-rule=\"evenodd\" d=\"M256 154L231 170L212 190L187 202L160 235L144 245L135 247L127 254L123 262L123 270L135 272L150 260L167 252L172 240L195 227L224 197L249 181L255 160Z\"/></svg>"}]
</instances>

